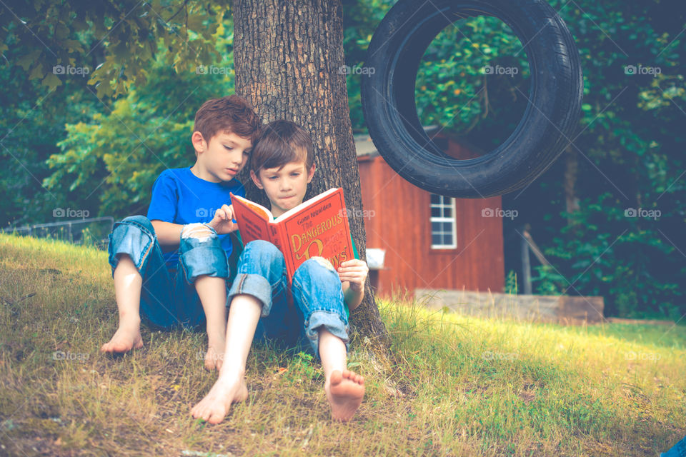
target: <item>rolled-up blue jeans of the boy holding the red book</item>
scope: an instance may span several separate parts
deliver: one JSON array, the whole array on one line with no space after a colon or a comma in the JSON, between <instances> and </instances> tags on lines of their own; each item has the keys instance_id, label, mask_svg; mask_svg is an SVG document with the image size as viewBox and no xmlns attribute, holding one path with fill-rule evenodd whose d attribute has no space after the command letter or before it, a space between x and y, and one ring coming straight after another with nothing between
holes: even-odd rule
<instances>
[{"instance_id":1,"label":"rolled-up blue jeans of the boy holding the red book","mask_svg":"<svg viewBox=\"0 0 686 457\"><path fill-rule=\"evenodd\" d=\"M332 264L314 257L299 266L291 287L294 306L289 305L287 288L286 263L281 251L267 241L251 241L239 258L227 303L239 293L262 302L254 341L270 338L305 348L309 343L314 355L319 356L318 329L324 326L341 338L347 349L349 328L343 290Z\"/></svg>"}]
</instances>

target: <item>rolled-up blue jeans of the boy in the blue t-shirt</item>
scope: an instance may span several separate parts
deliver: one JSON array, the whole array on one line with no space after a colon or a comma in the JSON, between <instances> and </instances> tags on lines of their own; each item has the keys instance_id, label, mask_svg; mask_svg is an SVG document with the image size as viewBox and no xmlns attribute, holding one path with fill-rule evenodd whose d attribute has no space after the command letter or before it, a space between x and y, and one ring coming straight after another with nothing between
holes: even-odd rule
<instances>
[{"instance_id":1,"label":"rolled-up blue jeans of the boy in the blue t-shirt","mask_svg":"<svg viewBox=\"0 0 686 457\"><path fill-rule=\"evenodd\" d=\"M114 224L107 249L109 264L114 276L114 268L119 263L117 256L128 254L138 268L143 278L141 321L162 330L181 327L195 330L204 326L205 313L195 290L195 278L200 275L229 277L227 253L217 233L210 230L212 235L205 238L182 236L178 266L169 270L149 219L130 216Z\"/></svg>"}]
</instances>

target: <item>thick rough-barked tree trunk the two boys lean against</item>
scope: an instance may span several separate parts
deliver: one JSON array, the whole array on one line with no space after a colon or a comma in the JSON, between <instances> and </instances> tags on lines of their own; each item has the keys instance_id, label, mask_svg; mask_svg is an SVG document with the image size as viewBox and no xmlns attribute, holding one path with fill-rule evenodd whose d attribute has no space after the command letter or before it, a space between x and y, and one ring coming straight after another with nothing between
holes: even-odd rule
<instances>
[{"instance_id":1,"label":"thick rough-barked tree trunk the two boys lean against","mask_svg":"<svg viewBox=\"0 0 686 457\"><path fill-rule=\"evenodd\" d=\"M359 171L348 109L341 1L233 0L236 93L264 122L287 119L312 136L317 171L306 199L342 187L352 236L366 258ZM264 193L242 174L249 199L267 204ZM359 216L356 216L359 215ZM360 336L387 344L374 295L352 313Z\"/></svg>"}]
</instances>

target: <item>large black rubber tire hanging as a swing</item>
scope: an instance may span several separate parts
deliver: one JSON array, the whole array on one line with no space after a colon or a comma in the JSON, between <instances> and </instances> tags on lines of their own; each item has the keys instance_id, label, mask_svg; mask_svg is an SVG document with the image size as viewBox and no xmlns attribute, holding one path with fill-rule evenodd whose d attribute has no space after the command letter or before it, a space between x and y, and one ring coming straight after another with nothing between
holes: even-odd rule
<instances>
[{"instance_id":1,"label":"large black rubber tire hanging as a swing","mask_svg":"<svg viewBox=\"0 0 686 457\"><path fill-rule=\"evenodd\" d=\"M457 160L424 133L414 84L424 51L439 31L482 15L504 21L526 46L530 102L503 144L477 159ZM579 119L579 52L564 21L543 0L399 0L374 32L365 66L374 69L362 76L369 136L400 176L435 194L479 198L521 189L562 153Z\"/></svg>"}]
</instances>

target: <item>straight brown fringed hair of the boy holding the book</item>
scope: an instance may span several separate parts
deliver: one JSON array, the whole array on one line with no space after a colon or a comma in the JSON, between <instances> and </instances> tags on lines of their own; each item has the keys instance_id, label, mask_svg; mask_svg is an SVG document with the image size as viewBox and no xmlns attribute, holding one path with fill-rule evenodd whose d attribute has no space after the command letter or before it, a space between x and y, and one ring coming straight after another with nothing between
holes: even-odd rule
<instances>
[{"instance_id":1,"label":"straight brown fringed hair of the boy holding the book","mask_svg":"<svg viewBox=\"0 0 686 457\"><path fill-rule=\"evenodd\" d=\"M264 126L250 154L249 169L257 173L295 161L304 161L308 170L314 164L314 146L307 131L291 121L273 121Z\"/></svg>"}]
</instances>

